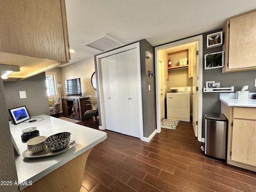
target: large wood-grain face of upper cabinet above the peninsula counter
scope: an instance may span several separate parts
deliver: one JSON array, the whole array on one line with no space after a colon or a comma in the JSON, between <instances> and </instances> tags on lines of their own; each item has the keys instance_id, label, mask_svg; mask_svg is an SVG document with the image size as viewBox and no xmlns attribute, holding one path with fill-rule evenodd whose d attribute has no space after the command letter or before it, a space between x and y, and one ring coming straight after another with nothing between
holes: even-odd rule
<instances>
[{"instance_id":1,"label":"large wood-grain face of upper cabinet above the peninsula counter","mask_svg":"<svg viewBox=\"0 0 256 192\"><path fill-rule=\"evenodd\" d=\"M68 61L63 6L63 0L2 1L1 52Z\"/></svg>"}]
</instances>

